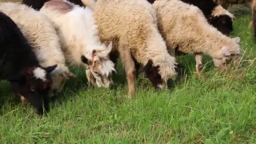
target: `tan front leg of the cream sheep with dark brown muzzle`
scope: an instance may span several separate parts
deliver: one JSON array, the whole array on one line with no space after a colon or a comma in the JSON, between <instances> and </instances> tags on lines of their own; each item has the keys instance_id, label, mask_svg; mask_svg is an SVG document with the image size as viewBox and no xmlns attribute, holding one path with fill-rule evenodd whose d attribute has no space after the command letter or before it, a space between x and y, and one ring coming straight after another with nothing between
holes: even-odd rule
<instances>
[{"instance_id":1,"label":"tan front leg of the cream sheep with dark brown muzzle","mask_svg":"<svg viewBox=\"0 0 256 144\"><path fill-rule=\"evenodd\" d=\"M121 43L119 43L118 51L120 53L121 60L125 67L126 79L128 82L128 95L133 97L135 93L135 79L136 79L136 69L133 58L131 56L130 49Z\"/></svg>"}]
</instances>

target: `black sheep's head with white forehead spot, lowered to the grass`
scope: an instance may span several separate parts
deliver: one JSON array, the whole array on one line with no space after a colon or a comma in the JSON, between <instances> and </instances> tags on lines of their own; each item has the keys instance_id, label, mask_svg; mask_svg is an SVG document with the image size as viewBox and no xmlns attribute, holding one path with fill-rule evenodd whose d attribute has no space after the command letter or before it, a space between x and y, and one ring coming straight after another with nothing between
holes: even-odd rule
<instances>
[{"instance_id":1,"label":"black sheep's head with white forehead spot, lowered to the grass","mask_svg":"<svg viewBox=\"0 0 256 144\"><path fill-rule=\"evenodd\" d=\"M53 83L50 74L56 67L26 67L8 80L17 93L36 107L38 114L43 114L44 109L48 111L48 93Z\"/></svg>"}]
</instances>

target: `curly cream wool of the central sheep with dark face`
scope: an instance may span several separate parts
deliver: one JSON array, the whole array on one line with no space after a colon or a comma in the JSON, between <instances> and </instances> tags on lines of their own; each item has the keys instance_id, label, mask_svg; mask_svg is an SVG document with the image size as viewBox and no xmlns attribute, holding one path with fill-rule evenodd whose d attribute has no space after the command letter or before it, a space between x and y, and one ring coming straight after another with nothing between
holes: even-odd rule
<instances>
[{"instance_id":1,"label":"curly cream wool of the central sheep with dark face","mask_svg":"<svg viewBox=\"0 0 256 144\"><path fill-rule=\"evenodd\" d=\"M139 63L152 59L164 80L175 79L175 58L168 54L147 0L97 0L93 8L101 40L119 40Z\"/></svg>"}]
</instances>

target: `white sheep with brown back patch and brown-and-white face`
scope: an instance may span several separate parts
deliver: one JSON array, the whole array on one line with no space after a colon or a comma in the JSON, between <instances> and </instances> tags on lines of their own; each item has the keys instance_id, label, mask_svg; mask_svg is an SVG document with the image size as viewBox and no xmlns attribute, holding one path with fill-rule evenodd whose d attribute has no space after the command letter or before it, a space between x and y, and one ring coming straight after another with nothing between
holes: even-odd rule
<instances>
[{"instance_id":1,"label":"white sheep with brown back patch and brown-and-white face","mask_svg":"<svg viewBox=\"0 0 256 144\"><path fill-rule=\"evenodd\" d=\"M40 12L53 21L66 60L91 70L91 73L86 73L89 84L93 75L96 81L91 84L108 88L113 83L111 74L115 71L109 59L112 45L106 47L101 43L93 11L66 0L51 0L44 4Z\"/></svg>"}]
</instances>

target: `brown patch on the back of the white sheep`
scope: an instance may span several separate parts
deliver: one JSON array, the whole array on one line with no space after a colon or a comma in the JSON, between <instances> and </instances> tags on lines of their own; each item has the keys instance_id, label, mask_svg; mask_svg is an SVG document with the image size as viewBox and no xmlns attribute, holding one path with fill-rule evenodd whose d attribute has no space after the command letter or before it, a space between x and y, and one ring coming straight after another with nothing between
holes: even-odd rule
<instances>
[{"instance_id":1,"label":"brown patch on the back of the white sheep","mask_svg":"<svg viewBox=\"0 0 256 144\"><path fill-rule=\"evenodd\" d=\"M50 0L45 3L46 8L52 8L53 10L57 10L61 13L68 13L69 11L72 11L74 6L75 5L73 3L66 0Z\"/></svg>"}]
</instances>

